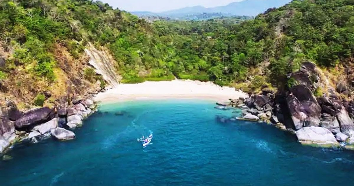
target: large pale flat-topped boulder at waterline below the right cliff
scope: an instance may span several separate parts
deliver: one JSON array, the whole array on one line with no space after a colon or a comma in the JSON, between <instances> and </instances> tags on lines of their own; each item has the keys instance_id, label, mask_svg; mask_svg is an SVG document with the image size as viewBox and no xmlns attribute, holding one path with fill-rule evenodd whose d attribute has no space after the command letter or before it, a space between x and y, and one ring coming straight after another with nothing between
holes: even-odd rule
<instances>
[{"instance_id":1,"label":"large pale flat-topped boulder at waterline below the right cliff","mask_svg":"<svg viewBox=\"0 0 354 186\"><path fill-rule=\"evenodd\" d=\"M322 127L304 127L296 131L299 142L306 145L335 145L339 143L336 137L328 129Z\"/></svg>"}]
</instances>

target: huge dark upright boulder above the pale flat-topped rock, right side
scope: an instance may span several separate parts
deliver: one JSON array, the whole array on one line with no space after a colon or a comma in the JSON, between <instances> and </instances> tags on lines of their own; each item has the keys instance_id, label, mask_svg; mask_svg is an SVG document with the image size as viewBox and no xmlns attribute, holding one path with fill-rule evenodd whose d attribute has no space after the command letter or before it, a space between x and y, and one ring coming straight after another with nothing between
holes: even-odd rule
<instances>
[{"instance_id":1,"label":"huge dark upright boulder above the pale flat-topped rock, right side","mask_svg":"<svg viewBox=\"0 0 354 186\"><path fill-rule=\"evenodd\" d=\"M320 126L321 106L305 85L290 88L286 102L296 130L304 126Z\"/></svg>"}]
</instances>

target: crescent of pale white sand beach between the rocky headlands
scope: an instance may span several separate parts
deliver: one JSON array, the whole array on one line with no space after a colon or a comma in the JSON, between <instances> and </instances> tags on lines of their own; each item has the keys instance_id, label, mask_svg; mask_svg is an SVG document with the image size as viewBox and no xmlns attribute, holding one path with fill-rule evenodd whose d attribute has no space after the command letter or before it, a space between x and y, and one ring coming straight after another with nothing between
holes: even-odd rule
<instances>
[{"instance_id":1,"label":"crescent of pale white sand beach between the rocky headlands","mask_svg":"<svg viewBox=\"0 0 354 186\"><path fill-rule=\"evenodd\" d=\"M169 98L209 99L227 101L248 95L234 88L221 87L211 82L192 80L145 81L139 84L119 84L113 89L99 93L95 101L109 103L130 100L161 100Z\"/></svg>"}]
</instances>

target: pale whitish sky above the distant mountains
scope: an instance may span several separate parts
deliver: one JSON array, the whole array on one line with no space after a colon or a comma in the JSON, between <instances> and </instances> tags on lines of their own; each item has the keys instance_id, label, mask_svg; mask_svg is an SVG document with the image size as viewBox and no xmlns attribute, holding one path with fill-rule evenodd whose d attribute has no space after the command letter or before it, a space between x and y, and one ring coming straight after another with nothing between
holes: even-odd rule
<instances>
[{"instance_id":1,"label":"pale whitish sky above the distant mountains","mask_svg":"<svg viewBox=\"0 0 354 186\"><path fill-rule=\"evenodd\" d=\"M187 6L215 7L241 0L101 0L114 8L126 11L162 12Z\"/></svg>"}]
</instances>

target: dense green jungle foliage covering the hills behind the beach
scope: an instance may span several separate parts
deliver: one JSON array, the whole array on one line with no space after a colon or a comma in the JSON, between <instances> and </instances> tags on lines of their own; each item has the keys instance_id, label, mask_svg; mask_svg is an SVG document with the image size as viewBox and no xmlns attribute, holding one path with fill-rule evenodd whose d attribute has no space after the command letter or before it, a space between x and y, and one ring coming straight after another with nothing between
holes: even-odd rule
<instances>
[{"instance_id":1,"label":"dense green jungle foliage covering the hills behind the beach","mask_svg":"<svg viewBox=\"0 0 354 186\"><path fill-rule=\"evenodd\" d=\"M255 19L149 23L91 0L0 0L0 39L18 66L54 80L54 44L75 58L107 47L123 82L198 79L251 89L285 84L305 60L333 67L353 58L354 0L294 0Z\"/></svg>"}]
</instances>

